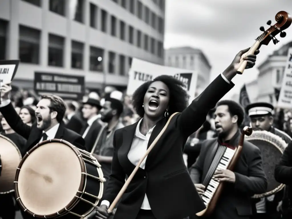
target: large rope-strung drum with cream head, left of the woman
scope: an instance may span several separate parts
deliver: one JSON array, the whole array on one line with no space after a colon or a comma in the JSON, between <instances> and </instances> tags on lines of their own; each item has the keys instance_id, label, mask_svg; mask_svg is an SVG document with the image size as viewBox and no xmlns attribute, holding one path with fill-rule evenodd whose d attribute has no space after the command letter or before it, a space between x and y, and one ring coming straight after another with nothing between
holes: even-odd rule
<instances>
[{"instance_id":1,"label":"large rope-strung drum with cream head, left of the woman","mask_svg":"<svg viewBox=\"0 0 292 219\"><path fill-rule=\"evenodd\" d=\"M15 196L37 218L84 218L103 194L100 164L65 140L43 141L25 154L15 176Z\"/></svg>"}]
</instances>

